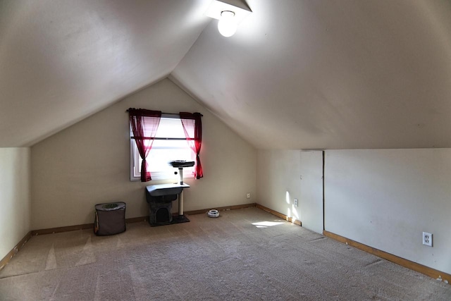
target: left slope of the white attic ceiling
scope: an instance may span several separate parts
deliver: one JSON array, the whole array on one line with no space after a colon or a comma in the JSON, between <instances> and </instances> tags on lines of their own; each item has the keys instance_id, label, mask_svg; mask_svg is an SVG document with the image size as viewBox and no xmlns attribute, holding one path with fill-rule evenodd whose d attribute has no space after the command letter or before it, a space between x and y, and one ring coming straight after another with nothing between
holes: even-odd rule
<instances>
[{"instance_id":1,"label":"left slope of the white attic ceiling","mask_svg":"<svg viewBox=\"0 0 451 301\"><path fill-rule=\"evenodd\" d=\"M0 0L0 147L29 146L166 78L209 0Z\"/></svg>"}]
</instances>

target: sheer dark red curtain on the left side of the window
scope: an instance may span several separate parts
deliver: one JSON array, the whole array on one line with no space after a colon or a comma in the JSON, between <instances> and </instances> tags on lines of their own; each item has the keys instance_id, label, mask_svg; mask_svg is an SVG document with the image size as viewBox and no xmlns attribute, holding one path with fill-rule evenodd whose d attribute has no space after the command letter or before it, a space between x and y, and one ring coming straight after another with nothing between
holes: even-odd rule
<instances>
[{"instance_id":1,"label":"sheer dark red curtain on the left side of the window","mask_svg":"<svg viewBox=\"0 0 451 301\"><path fill-rule=\"evenodd\" d=\"M161 111L130 108L128 109L128 115L130 116L133 138L142 159L141 182L148 182L152 180L152 177L150 176L150 171L147 171L146 158L154 143L156 130L160 124Z\"/></svg>"}]
</instances>

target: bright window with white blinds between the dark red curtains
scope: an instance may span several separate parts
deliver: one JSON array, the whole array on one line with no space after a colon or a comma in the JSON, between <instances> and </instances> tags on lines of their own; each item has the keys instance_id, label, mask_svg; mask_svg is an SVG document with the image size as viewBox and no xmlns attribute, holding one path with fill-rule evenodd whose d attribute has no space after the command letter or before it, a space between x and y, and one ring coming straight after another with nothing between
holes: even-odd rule
<instances>
[{"instance_id":1,"label":"bright window with white blinds between the dark red curtains","mask_svg":"<svg viewBox=\"0 0 451 301\"><path fill-rule=\"evenodd\" d=\"M189 133L190 137L194 137L193 133ZM132 137L130 128L130 137ZM196 155L187 143L185 131L178 114L161 115L160 124L152 149L147 156L147 164L149 171L152 173L152 180L179 180L179 176L175 175L178 168L174 168L169 162L174 160L196 161ZM130 139L130 180L140 180L142 159L138 153L135 140ZM194 178L194 166L183 168L184 178Z\"/></svg>"}]
</instances>

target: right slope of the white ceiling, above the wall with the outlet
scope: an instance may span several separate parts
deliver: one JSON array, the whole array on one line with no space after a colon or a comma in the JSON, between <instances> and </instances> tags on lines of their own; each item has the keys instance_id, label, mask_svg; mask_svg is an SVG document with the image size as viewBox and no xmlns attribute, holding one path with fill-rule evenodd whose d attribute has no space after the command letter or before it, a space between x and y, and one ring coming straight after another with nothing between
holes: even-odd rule
<instances>
[{"instance_id":1,"label":"right slope of the white ceiling, above the wall with the outlet","mask_svg":"<svg viewBox=\"0 0 451 301\"><path fill-rule=\"evenodd\" d=\"M450 1L247 4L171 78L256 147L451 147Z\"/></svg>"}]
</instances>

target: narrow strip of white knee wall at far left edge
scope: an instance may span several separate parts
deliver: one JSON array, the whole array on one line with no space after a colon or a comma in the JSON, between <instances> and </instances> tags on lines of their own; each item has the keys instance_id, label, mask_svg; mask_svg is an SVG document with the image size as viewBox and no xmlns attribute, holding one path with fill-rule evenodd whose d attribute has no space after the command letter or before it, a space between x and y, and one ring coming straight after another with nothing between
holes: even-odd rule
<instances>
[{"instance_id":1,"label":"narrow strip of white knee wall at far left edge","mask_svg":"<svg viewBox=\"0 0 451 301\"><path fill-rule=\"evenodd\" d=\"M0 259L30 231L30 148L0 148Z\"/></svg>"}]
</instances>

